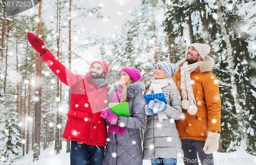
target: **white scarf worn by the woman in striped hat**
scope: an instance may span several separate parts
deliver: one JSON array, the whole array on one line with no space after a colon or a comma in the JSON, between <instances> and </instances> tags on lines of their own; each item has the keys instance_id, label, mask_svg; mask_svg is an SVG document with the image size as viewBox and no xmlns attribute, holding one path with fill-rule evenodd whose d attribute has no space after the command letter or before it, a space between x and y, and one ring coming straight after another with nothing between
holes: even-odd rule
<instances>
[{"instance_id":1,"label":"white scarf worn by the woman in striped hat","mask_svg":"<svg viewBox=\"0 0 256 165\"><path fill-rule=\"evenodd\" d=\"M164 88L168 85L170 85L170 84L166 79L153 79L153 82L150 85L150 88L147 91L146 95L152 94L153 91L154 91L154 94L162 93L162 88ZM161 123L163 122L163 119L167 119L167 115L162 111L159 111L157 113L157 115L158 115L158 121Z\"/></svg>"}]
</instances>

